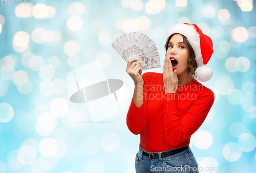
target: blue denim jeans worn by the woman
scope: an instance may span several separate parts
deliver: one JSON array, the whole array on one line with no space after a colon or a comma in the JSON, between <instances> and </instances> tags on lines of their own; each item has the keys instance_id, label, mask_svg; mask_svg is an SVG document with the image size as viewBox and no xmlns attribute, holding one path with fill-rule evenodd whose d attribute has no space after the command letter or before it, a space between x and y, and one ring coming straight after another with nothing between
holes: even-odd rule
<instances>
[{"instance_id":1,"label":"blue denim jeans worn by the woman","mask_svg":"<svg viewBox=\"0 0 256 173\"><path fill-rule=\"evenodd\" d=\"M194 154L191 152L189 145L188 149L177 153L172 156L161 157L161 153L158 154L159 158L151 160L149 157L146 157L142 152L146 152L140 146L139 152L136 154L135 158L135 169L136 173L147 173L147 172L189 172L189 173L198 173L198 164ZM175 150L175 149L174 149ZM171 150L169 150L171 151ZM148 152L146 152L148 153Z\"/></svg>"}]
</instances>

